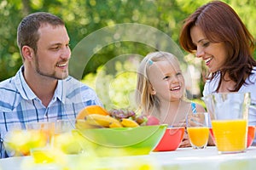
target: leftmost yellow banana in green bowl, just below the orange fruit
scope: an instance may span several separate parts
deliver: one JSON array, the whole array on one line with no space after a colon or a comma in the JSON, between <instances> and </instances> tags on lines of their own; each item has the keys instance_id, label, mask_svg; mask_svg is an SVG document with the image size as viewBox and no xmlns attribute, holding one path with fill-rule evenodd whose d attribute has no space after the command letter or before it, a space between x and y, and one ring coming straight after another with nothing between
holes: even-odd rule
<instances>
[{"instance_id":1,"label":"leftmost yellow banana in green bowl, just below the orange fruit","mask_svg":"<svg viewBox=\"0 0 256 170\"><path fill-rule=\"evenodd\" d=\"M119 121L113 118L112 116L103 116L98 114L91 114L85 116L84 120L85 122L88 122L90 125L102 127L109 127L109 125L113 122L119 123Z\"/></svg>"}]
</instances>

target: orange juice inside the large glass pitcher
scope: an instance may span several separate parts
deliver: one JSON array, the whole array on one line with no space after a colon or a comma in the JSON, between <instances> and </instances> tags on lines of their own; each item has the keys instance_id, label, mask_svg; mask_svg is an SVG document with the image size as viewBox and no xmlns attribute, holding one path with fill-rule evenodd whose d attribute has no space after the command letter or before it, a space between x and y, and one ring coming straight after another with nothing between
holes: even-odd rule
<instances>
[{"instance_id":1,"label":"orange juice inside the large glass pitcher","mask_svg":"<svg viewBox=\"0 0 256 170\"><path fill-rule=\"evenodd\" d=\"M212 120L218 151L234 152L247 148L247 120Z\"/></svg>"}]
</instances>

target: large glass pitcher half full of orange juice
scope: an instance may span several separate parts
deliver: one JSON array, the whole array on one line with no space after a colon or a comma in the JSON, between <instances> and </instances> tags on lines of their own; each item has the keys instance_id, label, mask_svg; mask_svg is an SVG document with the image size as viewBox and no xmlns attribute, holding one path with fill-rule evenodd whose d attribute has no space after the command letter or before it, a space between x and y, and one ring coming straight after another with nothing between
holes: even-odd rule
<instances>
[{"instance_id":1,"label":"large glass pitcher half full of orange juice","mask_svg":"<svg viewBox=\"0 0 256 170\"><path fill-rule=\"evenodd\" d=\"M211 94L204 99L212 112L212 133L219 154L239 153L247 149L249 93Z\"/></svg>"}]
</instances>

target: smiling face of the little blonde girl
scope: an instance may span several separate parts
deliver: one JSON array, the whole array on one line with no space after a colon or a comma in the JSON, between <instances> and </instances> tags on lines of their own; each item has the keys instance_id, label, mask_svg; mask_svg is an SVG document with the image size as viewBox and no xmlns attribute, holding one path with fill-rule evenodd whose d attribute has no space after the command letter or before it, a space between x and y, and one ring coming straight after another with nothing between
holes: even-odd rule
<instances>
[{"instance_id":1,"label":"smiling face of the little blonde girl","mask_svg":"<svg viewBox=\"0 0 256 170\"><path fill-rule=\"evenodd\" d=\"M148 68L151 94L161 101L176 101L183 97L184 78L175 59L154 62Z\"/></svg>"}]
</instances>

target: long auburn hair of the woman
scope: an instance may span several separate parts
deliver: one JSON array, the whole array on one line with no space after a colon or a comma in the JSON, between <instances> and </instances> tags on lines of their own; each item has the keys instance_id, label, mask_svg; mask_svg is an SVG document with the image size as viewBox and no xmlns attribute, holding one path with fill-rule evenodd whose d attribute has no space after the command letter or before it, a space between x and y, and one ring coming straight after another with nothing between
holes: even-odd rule
<instances>
[{"instance_id":1,"label":"long auburn hair of the woman","mask_svg":"<svg viewBox=\"0 0 256 170\"><path fill-rule=\"evenodd\" d=\"M256 65L253 59L255 40L238 14L228 4L220 1L212 1L197 8L195 13L190 14L184 20L179 37L181 47L189 53L196 51L196 46L190 36L193 26L200 27L210 42L224 42L228 57L225 65L219 70L222 78L218 88L224 80L224 75L228 73L230 79L236 82L235 89L231 91L238 91L247 77L252 74L253 66ZM216 75L217 72L209 73L207 79L212 80Z\"/></svg>"}]
</instances>

